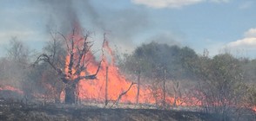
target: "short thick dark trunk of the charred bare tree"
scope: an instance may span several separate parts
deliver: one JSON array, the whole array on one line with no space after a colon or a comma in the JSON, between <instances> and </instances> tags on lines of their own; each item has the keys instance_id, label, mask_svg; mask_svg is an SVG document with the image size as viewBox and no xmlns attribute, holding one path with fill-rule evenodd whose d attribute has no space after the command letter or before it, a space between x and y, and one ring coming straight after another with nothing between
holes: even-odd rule
<instances>
[{"instance_id":1,"label":"short thick dark trunk of the charred bare tree","mask_svg":"<svg viewBox=\"0 0 256 121\"><path fill-rule=\"evenodd\" d=\"M65 87L65 104L75 104L76 103L76 85L67 85Z\"/></svg>"}]
</instances>

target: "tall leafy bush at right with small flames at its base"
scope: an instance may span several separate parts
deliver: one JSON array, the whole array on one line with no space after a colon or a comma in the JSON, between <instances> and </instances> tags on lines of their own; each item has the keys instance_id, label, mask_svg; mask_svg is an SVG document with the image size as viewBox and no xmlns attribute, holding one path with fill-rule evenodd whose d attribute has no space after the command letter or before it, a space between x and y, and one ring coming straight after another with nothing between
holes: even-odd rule
<instances>
[{"instance_id":1,"label":"tall leafy bush at right with small flames at its base","mask_svg":"<svg viewBox=\"0 0 256 121\"><path fill-rule=\"evenodd\" d=\"M226 120L233 107L243 104L246 90L241 63L231 54L219 54L212 59L201 56L190 65L199 79L199 99L205 111L222 114Z\"/></svg>"}]
</instances>

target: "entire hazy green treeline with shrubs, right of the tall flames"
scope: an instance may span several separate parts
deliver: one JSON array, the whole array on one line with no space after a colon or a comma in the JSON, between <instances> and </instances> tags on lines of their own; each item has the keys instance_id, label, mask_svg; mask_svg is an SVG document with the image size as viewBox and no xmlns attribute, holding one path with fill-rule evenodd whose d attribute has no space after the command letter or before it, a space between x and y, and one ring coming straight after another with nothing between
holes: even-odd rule
<instances>
[{"instance_id":1,"label":"entire hazy green treeline with shrubs, right of the tall flames","mask_svg":"<svg viewBox=\"0 0 256 121\"><path fill-rule=\"evenodd\" d=\"M192 48L153 41L124 54L118 64L128 75L140 73L145 83L159 88L165 77L171 83L170 95L184 101L199 99L205 111L222 113L224 118L234 106L256 105L255 59L228 53L209 57L206 49L196 54Z\"/></svg>"}]
</instances>

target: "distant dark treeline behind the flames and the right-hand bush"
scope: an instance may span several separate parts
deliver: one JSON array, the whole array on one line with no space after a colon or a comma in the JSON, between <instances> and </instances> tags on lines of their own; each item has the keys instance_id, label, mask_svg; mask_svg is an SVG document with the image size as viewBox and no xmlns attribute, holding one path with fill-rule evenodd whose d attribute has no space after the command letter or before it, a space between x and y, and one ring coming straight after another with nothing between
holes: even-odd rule
<instances>
[{"instance_id":1,"label":"distant dark treeline behind the flames and the right-hand bush","mask_svg":"<svg viewBox=\"0 0 256 121\"><path fill-rule=\"evenodd\" d=\"M246 57L236 58L232 54L224 53L209 57L209 52L205 49L203 54L196 54L192 48L169 46L152 41L151 43L142 44L131 54L123 54L119 58L118 66L125 73L136 73L140 71L145 77L157 77L163 70L166 70L167 78L176 80L199 80L199 71L214 61L222 61L229 65L229 60L236 61L239 69L243 74L246 82L255 82L256 80L256 59ZM210 71L210 70L209 70Z\"/></svg>"}]
</instances>

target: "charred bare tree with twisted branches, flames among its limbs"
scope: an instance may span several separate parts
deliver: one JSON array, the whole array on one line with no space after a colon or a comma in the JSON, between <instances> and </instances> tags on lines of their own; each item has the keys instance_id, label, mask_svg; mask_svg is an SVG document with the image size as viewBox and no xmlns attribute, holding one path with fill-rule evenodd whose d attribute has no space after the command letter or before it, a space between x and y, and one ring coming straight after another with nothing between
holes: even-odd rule
<instances>
[{"instance_id":1,"label":"charred bare tree with twisted branches, flames among its limbs","mask_svg":"<svg viewBox=\"0 0 256 121\"><path fill-rule=\"evenodd\" d=\"M100 69L101 61L98 63L98 69L95 73L88 73L87 66L88 62L93 57L91 53L92 43L89 41L89 34L81 34L81 30L73 29L72 34L66 37L61 33L57 35L65 41L66 54L60 55L62 61L64 61L64 67L61 67L55 61L56 53L53 51L52 54L40 54L37 57L34 65L39 61L44 61L50 64L55 70L58 77L64 83L64 102L66 104L75 104L77 99L77 84L80 80L95 80ZM56 37L52 35L54 41ZM105 41L105 39L104 39ZM104 44L104 43L103 43ZM65 59L65 60L64 60Z\"/></svg>"}]
</instances>

